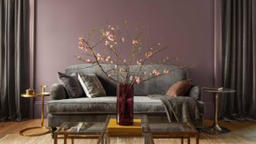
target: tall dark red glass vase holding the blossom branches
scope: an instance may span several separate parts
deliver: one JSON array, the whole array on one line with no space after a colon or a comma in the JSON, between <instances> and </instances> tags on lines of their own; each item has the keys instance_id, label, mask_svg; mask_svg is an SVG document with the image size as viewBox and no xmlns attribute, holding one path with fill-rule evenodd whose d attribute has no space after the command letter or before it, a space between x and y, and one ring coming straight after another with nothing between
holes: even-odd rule
<instances>
[{"instance_id":1,"label":"tall dark red glass vase holding the blossom branches","mask_svg":"<svg viewBox=\"0 0 256 144\"><path fill-rule=\"evenodd\" d=\"M118 84L117 123L122 126L129 126L134 123L134 84Z\"/></svg>"}]
</instances>

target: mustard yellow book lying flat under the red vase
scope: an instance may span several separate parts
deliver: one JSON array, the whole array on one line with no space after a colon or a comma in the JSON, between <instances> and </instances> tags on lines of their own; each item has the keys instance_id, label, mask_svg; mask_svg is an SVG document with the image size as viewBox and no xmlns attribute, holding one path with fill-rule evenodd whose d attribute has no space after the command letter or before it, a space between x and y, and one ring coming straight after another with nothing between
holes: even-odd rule
<instances>
[{"instance_id":1,"label":"mustard yellow book lying flat under the red vase","mask_svg":"<svg viewBox=\"0 0 256 144\"><path fill-rule=\"evenodd\" d=\"M119 126L115 118L110 118L107 130L109 134L142 134L142 121L134 119L133 125Z\"/></svg>"}]
</instances>

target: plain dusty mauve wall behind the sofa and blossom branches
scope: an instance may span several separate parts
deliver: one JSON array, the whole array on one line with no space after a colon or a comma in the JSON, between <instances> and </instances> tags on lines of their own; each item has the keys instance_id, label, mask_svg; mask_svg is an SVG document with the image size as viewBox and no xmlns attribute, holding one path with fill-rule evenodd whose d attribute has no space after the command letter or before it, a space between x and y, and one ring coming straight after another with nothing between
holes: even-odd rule
<instances>
[{"instance_id":1,"label":"plain dusty mauve wall behind the sofa and blossom branches","mask_svg":"<svg viewBox=\"0 0 256 144\"><path fill-rule=\"evenodd\" d=\"M190 78L199 86L214 83L213 0L37 0L35 86L58 82L57 72L78 64L78 37L94 26L115 25L125 19L150 26L154 39L164 38L164 54L195 66ZM162 54L161 56L163 56ZM48 89L48 90L49 90ZM213 114L205 97L206 117ZM38 117L38 100L35 116Z\"/></svg>"}]
</instances>

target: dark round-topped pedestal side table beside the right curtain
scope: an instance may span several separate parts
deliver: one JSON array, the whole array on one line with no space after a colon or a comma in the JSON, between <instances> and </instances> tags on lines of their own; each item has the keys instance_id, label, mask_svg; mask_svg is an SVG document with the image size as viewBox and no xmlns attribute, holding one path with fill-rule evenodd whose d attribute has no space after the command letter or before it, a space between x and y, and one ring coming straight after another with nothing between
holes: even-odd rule
<instances>
[{"instance_id":1,"label":"dark round-topped pedestal side table beside the right curtain","mask_svg":"<svg viewBox=\"0 0 256 144\"><path fill-rule=\"evenodd\" d=\"M226 134L229 133L230 130L218 126L218 95L223 93L234 93L235 90L226 89L226 88L213 88L210 87L203 87L202 90L210 93L214 93L214 124L208 128L203 128L202 131L208 134Z\"/></svg>"}]
</instances>

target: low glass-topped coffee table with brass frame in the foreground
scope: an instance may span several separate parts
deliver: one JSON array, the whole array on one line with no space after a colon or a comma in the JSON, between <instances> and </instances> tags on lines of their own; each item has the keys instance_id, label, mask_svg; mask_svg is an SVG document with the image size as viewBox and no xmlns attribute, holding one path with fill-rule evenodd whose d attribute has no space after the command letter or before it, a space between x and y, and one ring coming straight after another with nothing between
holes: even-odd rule
<instances>
[{"instance_id":1,"label":"low glass-topped coffee table with brass frame in the foreground","mask_svg":"<svg viewBox=\"0 0 256 144\"><path fill-rule=\"evenodd\" d=\"M64 144L67 139L97 139L97 143L146 143L154 144L154 138L183 138L196 137L196 143L199 142L199 133L194 126L187 122L148 122L144 114L135 114L134 118L141 119L141 134L114 134L107 130L110 118L116 118L115 115L108 115L106 122L64 122L62 126L54 132L54 144L58 143L59 138L63 138Z\"/></svg>"}]
</instances>

